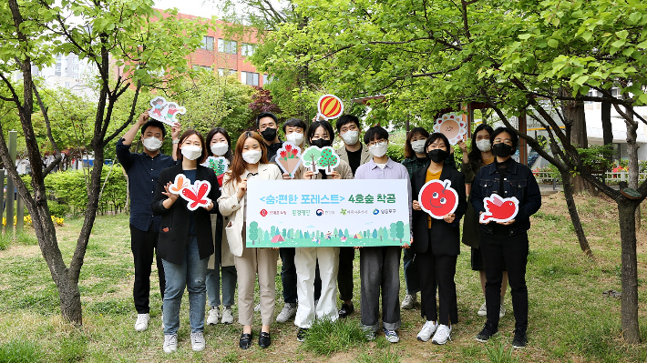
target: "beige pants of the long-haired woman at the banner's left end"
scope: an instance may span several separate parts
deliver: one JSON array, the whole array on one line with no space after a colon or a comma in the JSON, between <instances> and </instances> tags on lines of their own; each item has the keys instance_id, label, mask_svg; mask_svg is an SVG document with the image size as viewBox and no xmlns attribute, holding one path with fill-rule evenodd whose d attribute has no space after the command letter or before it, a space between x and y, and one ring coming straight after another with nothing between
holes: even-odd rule
<instances>
[{"instance_id":1,"label":"beige pants of the long-haired woman at the banner's left end","mask_svg":"<svg viewBox=\"0 0 647 363\"><path fill-rule=\"evenodd\" d=\"M243 246L245 230L243 228ZM242 247L242 256L234 257L238 272L238 322L252 325L254 314L254 284L259 277L262 325L270 325L276 303L276 262L279 250Z\"/></svg>"}]
</instances>

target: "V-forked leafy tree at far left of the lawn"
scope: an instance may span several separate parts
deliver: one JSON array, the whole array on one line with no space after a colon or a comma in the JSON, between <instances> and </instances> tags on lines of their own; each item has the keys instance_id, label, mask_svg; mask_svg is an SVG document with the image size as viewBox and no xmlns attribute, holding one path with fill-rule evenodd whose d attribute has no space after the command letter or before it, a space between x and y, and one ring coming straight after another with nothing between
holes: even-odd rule
<instances>
[{"instance_id":1,"label":"V-forked leafy tree at far left of the lawn","mask_svg":"<svg viewBox=\"0 0 647 363\"><path fill-rule=\"evenodd\" d=\"M174 13L162 18L152 5L151 0L8 0L0 4L0 108L20 121L32 168L31 188L18 176L9 158L4 121L0 125L0 158L32 217L38 246L56 283L61 314L77 325L82 324L78 277L98 210L105 148L141 111L137 109L139 92L161 85L161 69L167 80L189 72L185 57L200 45L208 26L179 19ZM83 227L69 265L58 247L44 182L61 160L61 148L48 115L51 103L41 95L32 74L34 67L51 65L56 54L78 55L98 70L98 101L91 108L93 116L87 133L95 166L87 184ZM122 71L111 72L114 66L122 67ZM11 81L15 72L21 76L16 83ZM115 107L130 89L134 89L132 103L126 116L114 125ZM43 163L44 149L36 139L36 112L45 125L47 148L55 156L48 165Z\"/></svg>"}]
</instances>

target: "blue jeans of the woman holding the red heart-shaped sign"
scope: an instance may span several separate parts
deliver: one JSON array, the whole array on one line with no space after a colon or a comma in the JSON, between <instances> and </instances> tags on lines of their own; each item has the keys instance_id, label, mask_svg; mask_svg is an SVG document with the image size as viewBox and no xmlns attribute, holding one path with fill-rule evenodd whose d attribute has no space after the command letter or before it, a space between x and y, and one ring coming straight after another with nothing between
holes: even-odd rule
<instances>
[{"instance_id":1,"label":"blue jeans of the woman holding the red heart-shaped sign","mask_svg":"<svg viewBox=\"0 0 647 363\"><path fill-rule=\"evenodd\" d=\"M209 258L200 259L198 238L187 237L184 262L180 265L162 259L166 276L164 291L164 334L177 334L180 328L180 304L184 287L189 290L189 322L191 332L204 330L204 306L207 300L205 277Z\"/></svg>"}]
</instances>

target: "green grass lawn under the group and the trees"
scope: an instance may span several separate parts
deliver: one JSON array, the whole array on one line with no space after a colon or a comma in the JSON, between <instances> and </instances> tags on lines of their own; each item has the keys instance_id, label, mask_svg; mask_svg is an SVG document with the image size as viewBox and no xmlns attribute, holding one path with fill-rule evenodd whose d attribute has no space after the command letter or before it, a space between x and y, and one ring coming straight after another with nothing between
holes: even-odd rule
<instances>
[{"instance_id":1,"label":"green grass lawn under the group and the trees","mask_svg":"<svg viewBox=\"0 0 647 363\"><path fill-rule=\"evenodd\" d=\"M359 314L345 323L313 328L306 344L296 341L292 323L272 325L272 347L241 351L241 327L208 326L207 348L190 349L189 306L185 294L180 315L179 350L165 355L161 346L161 301L151 297L149 330L138 333L133 324L133 266L129 246L128 216L98 217L87 247L80 277L84 326L73 328L60 318L56 287L35 244L26 234L0 250L0 362L113 362L113 361L331 361L331 362L644 362L647 344L625 345L621 339L620 300L606 290L621 291L620 233L617 212L608 199L578 199L584 227L595 261L583 256L568 219L561 194L544 198L533 217L527 281L529 287L529 346L510 351L514 328L512 304L500 322L497 338L488 344L474 340L484 323L476 312L483 303L478 275L469 267L469 250L462 246L457 265L459 322L445 346L422 343L416 334L424 323L419 308L403 310L401 341L392 345L378 336L365 342L357 336ZM647 207L642 208L639 232L639 314L642 340L647 341ZM57 227L65 260L76 245L82 220L67 219ZM280 262L279 262L280 263ZM280 269L280 268L279 268ZM355 307L359 308L359 257L355 258ZM157 286L153 272L151 286ZM405 296L401 277L401 297ZM276 313L282 308L281 278L277 276ZM153 289L154 291L154 289ZM234 316L237 316L234 307ZM237 320L237 319L236 319ZM260 316L255 320L255 336ZM12 360L13 359L13 360Z\"/></svg>"}]
</instances>

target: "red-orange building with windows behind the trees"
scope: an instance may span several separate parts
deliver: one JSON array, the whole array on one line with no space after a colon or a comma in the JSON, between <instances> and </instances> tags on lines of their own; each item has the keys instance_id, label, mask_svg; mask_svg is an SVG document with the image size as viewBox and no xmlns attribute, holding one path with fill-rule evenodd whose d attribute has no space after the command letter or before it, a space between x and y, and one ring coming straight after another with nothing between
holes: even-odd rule
<instances>
[{"instance_id":1,"label":"red-orange building with windows behind the trees","mask_svg":"<svg viewBox=\"0 0 647 363\"><path fill-rule=\"evenodd\" d=\"M163 12L162 12L163 14ZM166 14L165 14L166 15ZM178 14L183 19L200 19L199 16ZM204 21L211 19L201 18ZM253 31L244 32L244 35L225 35L227 24L220 20L215 21L215 31L210 29L207 35L202 38L200 49L196 50L189 57L189 64L193 68L206 68L221 75L237 73L241 83L250 86L263 86L268 82L268 76L260 74L256 68L247 61L251 56L257 43L256 34Z\"/></svg>"}]
</instances>

